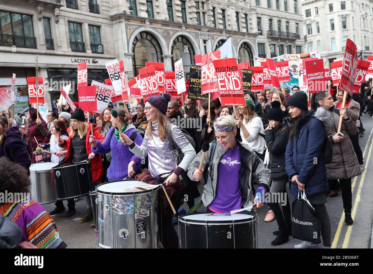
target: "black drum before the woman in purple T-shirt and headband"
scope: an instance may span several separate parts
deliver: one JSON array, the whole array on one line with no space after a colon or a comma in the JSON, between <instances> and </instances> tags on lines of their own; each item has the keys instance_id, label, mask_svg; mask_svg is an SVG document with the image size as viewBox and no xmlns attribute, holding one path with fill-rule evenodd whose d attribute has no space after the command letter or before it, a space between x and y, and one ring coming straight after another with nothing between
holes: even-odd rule
<instances>
[{"instance_id":1,"label":"black drum before the woman in purple T-shirt and headband","mask_svg":"<svg viewBox=\"0 0 373 274\"><path fill-rule=\"evenodd\" d=\"M179 218L181 248L258 248L257 218L192 213Z\"/></svg>"}]
</instances>

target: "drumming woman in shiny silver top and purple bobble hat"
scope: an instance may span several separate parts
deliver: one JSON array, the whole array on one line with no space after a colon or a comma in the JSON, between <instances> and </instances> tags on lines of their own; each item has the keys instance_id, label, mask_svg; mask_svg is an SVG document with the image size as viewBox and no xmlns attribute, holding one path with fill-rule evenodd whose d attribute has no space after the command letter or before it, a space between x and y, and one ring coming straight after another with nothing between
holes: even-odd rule
<instances>
[{"instance_id":1,"label":"drumming woman in shiny silver top and purple bobble hat","mask_svg":"<svg viewBox=\"0 0 373 274\"><path fill-rule=\"evenodd\" d=\"M166 116L168 102L171 100L169 93L162 95L151 96L145 101L145 115L149 121L149 125L145 132L144 141L141 146L135 144L129 136L120 137L125 145L129 145L129 149L140 158L148 156L149 167L144 169L140 175L135 177L136 180L150 183L153 185L159 184L158 178L166 183L166 190L171 199L172 204L176 201L182 190L180 175L188 169L189 164L195 157L193 146L186 139L183 132L173 125ZM172 140L167 134L167 127L170 127ZM178 151L184 153L184 158L179 163L174 155L174 150L171 143L175 144ZM136 163L131 161L128 169L131 169ZM162 244L164 248L178 248L179 237L172 226L173 212L162 192Z\"/></svg>"}]
</instances>

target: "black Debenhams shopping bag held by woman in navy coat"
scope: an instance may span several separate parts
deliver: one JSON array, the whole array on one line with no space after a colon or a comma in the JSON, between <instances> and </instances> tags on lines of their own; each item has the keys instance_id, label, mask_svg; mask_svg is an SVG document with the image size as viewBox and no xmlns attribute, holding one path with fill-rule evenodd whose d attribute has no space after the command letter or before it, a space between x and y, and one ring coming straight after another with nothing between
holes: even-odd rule
<instances>
[{"instance_id":1,"label":"black Debenhams shopping bag held by woman in navy coat","mask_svg":"<svg viewBox=\"0 0 373 274\"><path fill-rule=\"evenodd\" d=\"M299 193L301 195L299 195ZM316 211L307 200L304 191L298 191L298 198L292 203L291 232L294 239L321 243L320 220Z\"/></svg>"}]
</instances>

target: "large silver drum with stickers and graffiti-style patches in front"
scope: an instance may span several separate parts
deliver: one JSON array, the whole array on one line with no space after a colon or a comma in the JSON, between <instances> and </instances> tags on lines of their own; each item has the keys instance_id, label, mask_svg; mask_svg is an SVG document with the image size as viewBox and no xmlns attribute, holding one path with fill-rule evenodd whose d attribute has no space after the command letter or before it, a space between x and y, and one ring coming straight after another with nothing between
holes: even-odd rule
<instances>
[{"instance_id":1,"label":"large silver drum with stickers and graffiti-style patches in front","mask_svg":"<svg viewBox=\"0 0 373 274\"><path fill-rule=\"evenodd\" d=\"M99 248L160 248L160 186L123 180L96 193Z\"/></svg>"}]
</instances>

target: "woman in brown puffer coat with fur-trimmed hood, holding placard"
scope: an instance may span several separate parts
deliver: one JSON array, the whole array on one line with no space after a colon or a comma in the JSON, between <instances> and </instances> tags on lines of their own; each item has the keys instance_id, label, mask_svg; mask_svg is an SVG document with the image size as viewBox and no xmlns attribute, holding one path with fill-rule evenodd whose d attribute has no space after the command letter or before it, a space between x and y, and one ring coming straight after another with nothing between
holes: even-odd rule
<instances>
[{"instance_id":1,"label":"woman in brown puffer coat with fur-trimmed hood, holding placard","mask_svg":"<svg viewBox=\"0 0 373 274\"><path fill-rule=\"evenodd\" d=\"M347 91L345 91L347 92ZM345 107L339 109L333 105L333 98L327 91L314 93L311 97L311 107L313 110L322 107L332 115L332 122L335 126L326 130L327 136L333 143L332 163L326 165L329 185L332 186L339 180L342 191L343 208L345 211L345 224L352 225L354 221L351 217L352 189L351 178L361 174L360 165L356 153L352 149L349 135L357 134L354 120L347 115ZM339 124L339 117L343 117L341 132L336 132Z\"/></svg>"}]
</instances>

